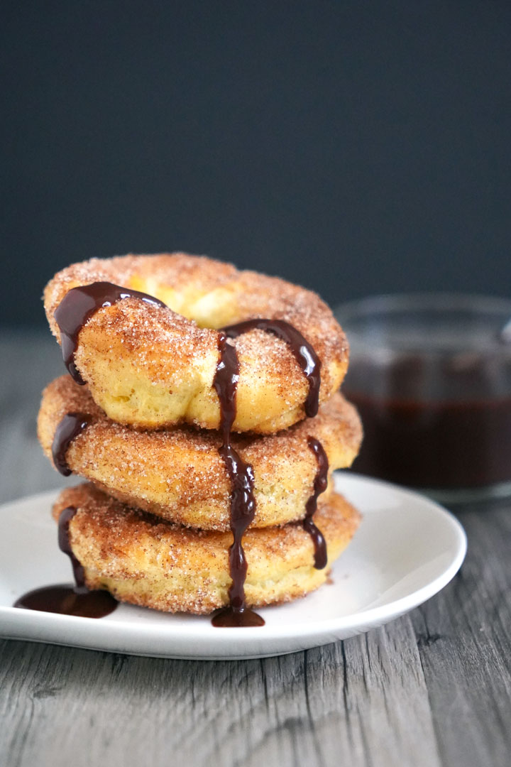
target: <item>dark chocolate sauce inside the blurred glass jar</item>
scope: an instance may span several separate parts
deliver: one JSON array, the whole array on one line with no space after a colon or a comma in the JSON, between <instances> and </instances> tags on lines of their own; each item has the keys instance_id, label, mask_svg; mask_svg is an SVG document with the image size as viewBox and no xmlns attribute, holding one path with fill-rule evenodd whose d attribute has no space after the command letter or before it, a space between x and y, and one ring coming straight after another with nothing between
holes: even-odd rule
<instances>
[{"instance_id":1,"label":"dark chocolate sauce inside the blurred glass jar","mask_svg":"<svg viewBox=\"0 0 511 767\"><path fill-rule=\"evenodd\" d=\"M444 491L511 481L511 365L468 355L434 370L421 357L385 369L357 360L343 392L364 427L356 472Z\"/></svg>"}]
</instances>

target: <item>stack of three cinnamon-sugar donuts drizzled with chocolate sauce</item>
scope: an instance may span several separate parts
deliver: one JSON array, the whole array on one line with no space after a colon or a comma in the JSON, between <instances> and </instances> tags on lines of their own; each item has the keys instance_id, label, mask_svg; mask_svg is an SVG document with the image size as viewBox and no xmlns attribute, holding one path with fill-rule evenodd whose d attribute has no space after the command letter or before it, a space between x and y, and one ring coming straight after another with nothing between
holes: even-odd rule
<instances>
[{"instance_id":1,"label":"stack of three cinnamon-sugar donuts drizzled with chocolate sauce","mask_svg":"<svg viewBox=\"0 0 511 767\"><path fill-rule=\"evenodd\" d=\"M176 253L71 265L44 305L68 374L38 436L87 480L54 505L87 588L254 625L326 581L359 524L332 470L362 432L317 295Z\"/></svg>"}]
</instances>

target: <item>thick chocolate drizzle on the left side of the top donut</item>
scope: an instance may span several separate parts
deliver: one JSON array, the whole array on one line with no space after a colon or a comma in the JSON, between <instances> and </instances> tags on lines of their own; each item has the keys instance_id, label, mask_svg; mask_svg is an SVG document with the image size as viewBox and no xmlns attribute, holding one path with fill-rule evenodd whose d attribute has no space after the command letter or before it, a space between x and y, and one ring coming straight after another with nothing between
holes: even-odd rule
<instances>
[{"instance_id":1,"label":"thick chocolate drizzle on the left side of the top donut","mask_svg":"<svg viewBox=\"0 0 511 767\"><path fill-rule=\"evenodd\" d=\"M98 309L112 306L123 298L140 298L142 301L146 301L146 304L165 307L162 301L147 293L141 293L129 288L121 288L120 285L113 285L112 282L93 282L91 285L80 285L77 288L71 288L55 309L54 318L61 331L64 364L69 374L80 386L83 386L85 381L74 364L78 334L87 320Z\"/></svg>"}]
</instances>

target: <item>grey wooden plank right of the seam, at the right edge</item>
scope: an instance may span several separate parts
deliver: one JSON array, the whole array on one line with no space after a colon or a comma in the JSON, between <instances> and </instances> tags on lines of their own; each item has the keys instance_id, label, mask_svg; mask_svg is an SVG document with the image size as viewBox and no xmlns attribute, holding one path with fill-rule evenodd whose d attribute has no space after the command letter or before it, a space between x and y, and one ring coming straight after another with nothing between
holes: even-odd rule
<instances>
[{"instance_id":1,"label":"grey wooden plank right of the seam, at the right edge","mask_svg":"<svg viewBox=\"0 0 511 767\"><path fill-rule=\"evenodd\" d=\"M460 574L411 619L447 764L509 764L511 508L494 502L460 521L469 546Z\"/></svg>"}]
</instances>

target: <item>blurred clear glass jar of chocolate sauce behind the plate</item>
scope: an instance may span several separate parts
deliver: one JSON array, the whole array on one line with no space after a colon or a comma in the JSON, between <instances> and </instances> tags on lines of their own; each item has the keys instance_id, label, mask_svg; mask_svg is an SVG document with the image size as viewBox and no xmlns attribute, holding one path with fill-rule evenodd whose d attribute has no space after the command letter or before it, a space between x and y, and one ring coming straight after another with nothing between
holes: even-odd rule
<instances>
[{"instance_id":1,"label":"blurred clear glass jar of chocolate sauce behind the plate","mask_svg":"<svg viewBox=\"0 0 511 767\"><path fill-rule=\"evenodd\" d=\"M353 469L444 502L511 495L511 301L384 295L342 304Z\"/></svg>"}]
</instances>

